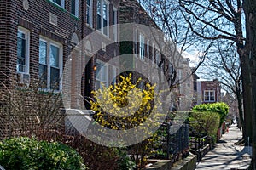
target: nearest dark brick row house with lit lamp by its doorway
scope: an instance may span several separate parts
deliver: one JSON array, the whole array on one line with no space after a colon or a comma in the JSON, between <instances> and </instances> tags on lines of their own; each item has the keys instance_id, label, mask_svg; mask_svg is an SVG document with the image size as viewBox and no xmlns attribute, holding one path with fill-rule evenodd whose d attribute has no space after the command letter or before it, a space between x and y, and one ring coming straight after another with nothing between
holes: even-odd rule
<instances>
[{"instance_id":1,"label":"nearest dark brick row house with lit lamp by its doorway","mask_svg":"<svg viewBox=\"0 0 256 170\"><path fill-rule=\"evenodd\" d=\"M69 86L68 93L75 95L69 96L68 106L79 108L79 105L84 105L80 96L90 97L91 90L101 88L99 82L108 83L113 78L106 79L104 75L116 68L103 63L119 55L118 43L93 56L87 54L95 48L92 41L101 43L101 46L103 42L116 42L118 30L106 29L106 26L118 23L118 9L118 0L2 1L0 81L8 85L10 77L17 77L20 84L28 85L33 79L40 79L42 90L56 92ZM96 32L96 36L83 42L92 32ZM79 42L84 45L77 48ZM86 59L89 62L82 68ZM65 79L63 71L67 61L72 66L70 77Z\"/></svg>"}]
</instances>

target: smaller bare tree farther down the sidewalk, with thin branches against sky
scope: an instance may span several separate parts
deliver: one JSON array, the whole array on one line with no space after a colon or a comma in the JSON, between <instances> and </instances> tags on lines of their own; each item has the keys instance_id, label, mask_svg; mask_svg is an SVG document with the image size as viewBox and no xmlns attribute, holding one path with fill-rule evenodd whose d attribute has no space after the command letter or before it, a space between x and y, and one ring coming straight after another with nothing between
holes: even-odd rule
<instances>
[{"instance_id":1,"label":"smaller bare tree farther down the sidewalk, with thin branches against sky","mask_svg":"<svg viewBox=\"0 0 256 170\"><path fill-rule=\"evenodd\" d=\"M223 42L218 40L214 47L213 54L209 55L202 69L207 77L216 77L223 85L222 87L228 94L236 95L236 102L239 117L245 139L245 124L242 110L242 90L241 90L241 65L240 59L236 52L234 42ZM205 78L207 78L205 77Z\"/></svg>"}]
</instances>

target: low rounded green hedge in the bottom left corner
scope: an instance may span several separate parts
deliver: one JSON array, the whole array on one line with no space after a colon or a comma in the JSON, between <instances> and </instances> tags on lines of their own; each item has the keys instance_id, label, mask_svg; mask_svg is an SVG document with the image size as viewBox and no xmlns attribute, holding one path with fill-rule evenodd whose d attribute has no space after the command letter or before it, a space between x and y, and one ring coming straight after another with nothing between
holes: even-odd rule
<instances>
[{"instance_id":1,"label":"low rounded green hedge in the bottom left corner","mask_svg":"<svg viewBox=\"0 0 256 170\"><path fill-rule=\"evenodd\" d=\"M87 169L81 156L67 145L27 137L0 142L0 165L6 170Z\"/></svg>"}]
</instances>

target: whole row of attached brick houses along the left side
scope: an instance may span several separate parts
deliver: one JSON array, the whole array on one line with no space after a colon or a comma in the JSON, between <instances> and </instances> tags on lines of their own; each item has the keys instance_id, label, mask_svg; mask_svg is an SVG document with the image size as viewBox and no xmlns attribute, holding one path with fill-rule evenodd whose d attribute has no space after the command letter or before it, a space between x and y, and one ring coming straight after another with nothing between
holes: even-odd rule
<instances>
[{"instance_id":1,"label":"whole row of attached brick houses along the left side","mask_svg":"<svg viewBox=\"0 0 256 170\"><path fill-rule=\"evenodd\" d=\"M5 0L0 21L0 81L8 85L9 77L17 77L20 84L28 85L40 79L42 90L65 89L66 109L81 109L84 99L90 109L91 91L102 88L101 82L107 86L115 82L119 65L108 61L119 54L137 57L119 64L142 65L137 68L141 71L157 65L164 72L150 75L149 71L147 77L159 82L168 77L170 86L176 78L172 59L163 54L166 38L152 41L147 30L134 27L131 42L119 42L121 28L116 24L137 23L160 30L137 0Z\"/></svg>"}]
</instances>

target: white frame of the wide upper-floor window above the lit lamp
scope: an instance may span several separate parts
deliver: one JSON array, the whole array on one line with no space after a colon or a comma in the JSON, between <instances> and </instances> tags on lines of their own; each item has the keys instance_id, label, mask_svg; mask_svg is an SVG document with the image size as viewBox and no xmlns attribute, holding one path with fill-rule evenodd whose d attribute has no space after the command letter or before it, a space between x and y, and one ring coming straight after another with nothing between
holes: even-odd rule
<instances>
[{"instance_id":1,"label":"white frame of the wide upper-floor window above the lit lamp","mask_svg":"<svg viewBox=\"0 0 256 170\"><path fill-rule=\"evenodd\" d=\"M107 26L105 26L106 28L105 29L107 29L106 31L106 33L104 32L104 16L103 16L103 4L106 4L107 5L107 11L106 11L106 14L107 14L107 18L106 18L106 20L107 20ZM100 11L98 11L98 4L100 4ZM105 35L105 36L107 36L107 37L109 37L109 2L108 1L106 1L106 0L97 0L97 17L98 17L98 14L101 16L101 26L99 27L99 26L97 26L97 29L99 30L99 31L101 31L102 32L102 34L103 35ZM97 24L98 24L98 19L97 19Z\"/></svg>"}]
</instances>

